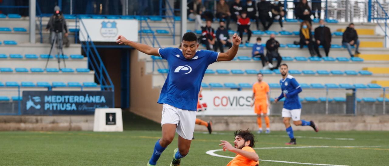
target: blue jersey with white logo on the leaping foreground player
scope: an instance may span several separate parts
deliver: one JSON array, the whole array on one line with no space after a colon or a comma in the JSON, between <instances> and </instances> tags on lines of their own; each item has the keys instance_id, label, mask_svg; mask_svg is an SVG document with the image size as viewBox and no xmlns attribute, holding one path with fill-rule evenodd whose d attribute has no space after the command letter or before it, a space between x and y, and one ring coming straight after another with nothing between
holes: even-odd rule
<instances>
[{"instance_id":1,"label":"blue jersey with white logo on the leaping foreground player","mask_svg":"<svg viewBox=\"0 0 389 166\"><path fill-rule=\"evenodd\" d=\"M168 61L169 73L159 95L159 104L197 111L200 92L207 67L217 61L219 53L198 50L192 59L186 59L178 48L159 48L159 55Z\"/></svg>"}]
</instances>

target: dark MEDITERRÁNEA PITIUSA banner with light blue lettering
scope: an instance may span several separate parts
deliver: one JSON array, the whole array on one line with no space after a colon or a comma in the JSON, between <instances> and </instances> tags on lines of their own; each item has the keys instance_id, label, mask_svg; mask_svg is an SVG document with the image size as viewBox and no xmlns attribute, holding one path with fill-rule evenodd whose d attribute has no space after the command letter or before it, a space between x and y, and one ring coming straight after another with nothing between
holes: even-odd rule
<instances>
[{"instance_id":1,"label":"dark MEDITERR\u00c1NEA PITIUSA banner with light blue lettering","mask_svg":"<svg viewBox=\"0 0 389 166\"><path fill-rule=\"evenodd\" d=\"M23 91L21 113L94 114L96 108L112 108L113 95L102 91Z\"/></svg>"}]
</instances>

